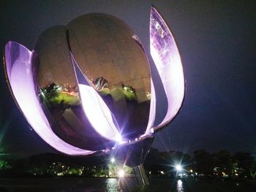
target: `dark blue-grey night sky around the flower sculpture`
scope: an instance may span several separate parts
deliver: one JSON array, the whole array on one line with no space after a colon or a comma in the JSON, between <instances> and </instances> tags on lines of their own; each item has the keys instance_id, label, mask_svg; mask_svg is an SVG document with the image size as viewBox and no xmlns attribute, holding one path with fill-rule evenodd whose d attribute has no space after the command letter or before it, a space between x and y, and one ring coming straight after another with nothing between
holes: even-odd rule
<instances>
[{"instance_id":1,"label":"dark blue-grey night sky around the flower sculpture","mask_svg":"<svg viewBox=\"0 0 256 192\"><path fill-rule=\"evenodd\" d=\"M153 146L189 153L203 148L256 154L255 1L1 0L0 49L12 40L32 50L46 28L104 12L128 23L149 55L151 4L176 37L187 81L181 112L157 134ZM0 76L0 153L53 151L30 130L10 99L2 64Z\"/></svg>"}]
</instances>

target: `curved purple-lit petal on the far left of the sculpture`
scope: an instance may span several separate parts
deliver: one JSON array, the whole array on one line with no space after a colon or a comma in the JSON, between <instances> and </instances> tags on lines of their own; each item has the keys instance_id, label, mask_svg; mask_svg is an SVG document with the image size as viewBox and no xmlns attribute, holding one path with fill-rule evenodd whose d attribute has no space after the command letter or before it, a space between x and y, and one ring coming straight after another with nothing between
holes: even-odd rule
<instances>
[{"instance_id":1,"label":"curved purple-lit petal on the far left of the sculpture","mask_svg":"<svg viewBox=\"0 0 256 192\"><path fill-rule=\"evenodd\" d=\"M33 52L16 42L5 45L5 66L12 96L34 131L49 145L69 155L89 155L94 151L83 150L67 144L50 128L35 91L31 58Z\"/></svg>"}]
</instances>

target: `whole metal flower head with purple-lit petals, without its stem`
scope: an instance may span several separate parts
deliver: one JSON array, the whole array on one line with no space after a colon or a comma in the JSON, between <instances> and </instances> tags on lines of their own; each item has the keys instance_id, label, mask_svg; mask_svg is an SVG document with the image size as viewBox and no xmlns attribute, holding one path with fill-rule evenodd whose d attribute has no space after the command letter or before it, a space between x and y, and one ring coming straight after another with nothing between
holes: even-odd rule
<instances>
[{"instance_id":1,"label":"whole metal flower head with purple-lit petals, without its stem","mask_svg":"<svg viewBox=\"0 0 256 192\"><path fill-rule=\"evenodd\" d=\"M34 131L62 153L89 155L152 138L180 110L181 58L154 7L150 53L162 82L152 80L144 47L126 23L92 13L48 28L32 51L8 42L4 66L12 97ZM167 112L155 125L157 84Z\"/></svg>"}]
</instances>

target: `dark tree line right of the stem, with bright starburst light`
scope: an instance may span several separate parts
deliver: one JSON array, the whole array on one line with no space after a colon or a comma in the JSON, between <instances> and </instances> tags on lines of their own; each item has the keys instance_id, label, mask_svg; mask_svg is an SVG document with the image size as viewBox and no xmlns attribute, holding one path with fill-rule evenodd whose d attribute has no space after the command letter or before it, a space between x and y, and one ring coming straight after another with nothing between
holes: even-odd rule
<instances>
[{"instance_id":1,"label":"dark tree line right of the stem, with bright starburst light","mask_svg":"<svg viewBox=\"0 0 256 192\"><path fill-rule=\"evenodd\" d=\"M159 174L159 171L176 173L176 164L183 166L184 172L189 174L256 178L256 160L247 152L230 153L220 150L209 153L206 150L195 150L189 155L179 151L160 152L151 148L144 166L151 174Z\"/></svg>"}]
</instances>

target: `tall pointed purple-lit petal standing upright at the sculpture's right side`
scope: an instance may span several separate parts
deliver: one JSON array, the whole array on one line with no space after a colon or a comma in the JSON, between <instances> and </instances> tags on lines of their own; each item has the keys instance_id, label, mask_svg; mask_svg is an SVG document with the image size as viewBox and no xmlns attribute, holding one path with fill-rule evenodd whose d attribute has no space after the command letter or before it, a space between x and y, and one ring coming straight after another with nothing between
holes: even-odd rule
<instances>
[{"instance_id":1,"label":"tall pointed purple-lit petal standing upright at the sculpture's right side","mask_svg":"<svg viewBox=\"0 0 256 192\"><path fill-rule=\"evenodd\" d=\"M184 73L178 47L157 9L151 7L150 51L167 96L167 113L156 128L170 123L184 99Z\"/></svg>"}]
</instances>

